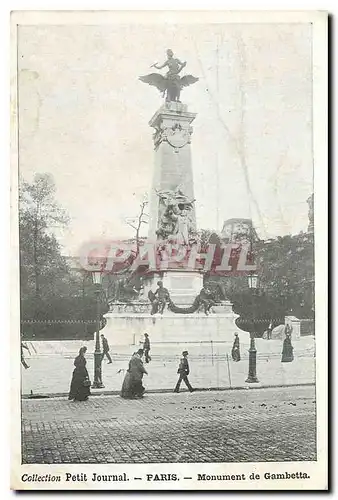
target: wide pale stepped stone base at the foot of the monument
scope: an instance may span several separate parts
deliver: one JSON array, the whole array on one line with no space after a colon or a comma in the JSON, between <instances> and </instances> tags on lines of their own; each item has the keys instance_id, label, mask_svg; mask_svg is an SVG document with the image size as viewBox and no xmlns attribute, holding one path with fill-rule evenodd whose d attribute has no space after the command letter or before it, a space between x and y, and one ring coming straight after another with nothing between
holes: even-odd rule
<instances>
[{"instance_id":1,"label":"wide pale stepped stone base at the foot of the monument","mask_svg":"<svg viewBox=\"0 0 338 500\"><path fill-rule=\"evenodd\" d=\"M231 303L215 306L219 312L209 316L203 312L175 314L167 310L163 315L151 316L149 312L119 312L119 304L116 306L116 310L113 307L105 315L107 325L103 330L111 346L139 345L144 340L144 333L148 333L150 341L157 344L231 342L234 333L240 333L235 325L237 315L232 312Z\"/></svg>"}]
</instances>

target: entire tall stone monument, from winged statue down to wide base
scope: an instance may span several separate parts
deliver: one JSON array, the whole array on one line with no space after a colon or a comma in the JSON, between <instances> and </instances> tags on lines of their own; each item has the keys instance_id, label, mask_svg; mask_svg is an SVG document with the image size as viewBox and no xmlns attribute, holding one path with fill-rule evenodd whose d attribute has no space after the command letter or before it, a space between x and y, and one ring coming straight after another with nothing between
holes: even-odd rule
<instances>
[{"instance_id":1,"label":"entire tall stone monument, from winged statue down to wide base","mask_svg":"<svg viewBox=\"0 0 338 500\"><path fill-rule=\"evenodd\" d=\"M181 102L181 91L198 78L181 76L186 62L167 50L163 76L141 76L157 87L164 102L149 121L153 129L154 166L149 196L148 242L161 255L161 266L141 276L142 291L133 301L112 301L106 315L105 335L112 344L134 344L148 332L153 342L231 341L236 315L229 301L216 302L203 286L198 259L198 233L191 148L197 113ZM168 248L174 259L163 259ZM182 257L180 258L180 253ZM190 260L189 260L190 259ZM192 265L183 265L187 261ZM139 270L137 272L140 272Z\"/></svg>"}]
</instances>

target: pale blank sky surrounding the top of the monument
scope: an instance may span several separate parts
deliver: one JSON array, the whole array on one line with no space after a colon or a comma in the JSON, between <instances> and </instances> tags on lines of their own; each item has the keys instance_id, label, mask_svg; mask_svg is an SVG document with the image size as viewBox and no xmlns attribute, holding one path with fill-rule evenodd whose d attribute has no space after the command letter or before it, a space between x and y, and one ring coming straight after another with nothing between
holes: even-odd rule
<instances>
[{"instance_id":1,"label":"pale blank sky surrounding the top of the monument","mask_svg":"<svg viewBox=\"0 0 338 500\"><path fill-rule=\"evenodd\" d=\"M138 80L167 48L199 81L192 164L198 228L252 218L260 237L306 231L313 191L311 25L124 23L19 26L19 171L54 176L71 222L65 254L134 235L150 192L148 122L163 99ZM165 70L162 71L164 73ZM146 234L146 228L144 228Z\"/></svg>"}]
</instances>

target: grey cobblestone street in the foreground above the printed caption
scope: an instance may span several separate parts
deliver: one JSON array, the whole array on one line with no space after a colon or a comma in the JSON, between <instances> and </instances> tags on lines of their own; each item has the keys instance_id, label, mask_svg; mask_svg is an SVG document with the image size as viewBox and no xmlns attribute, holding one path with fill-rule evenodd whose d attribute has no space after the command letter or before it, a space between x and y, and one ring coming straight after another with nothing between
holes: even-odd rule
<instances>
[{"instance_id":1,"label":"grey cobblestone street in the foreground above the printed caption","mask_svg":"<svg viewBox=\"0 0 338 500\"><path fill-rule=\"evenodd\" d=\"M22 400L23 463L316 459L315 388Z\"/></svg>"}]
</instances>

